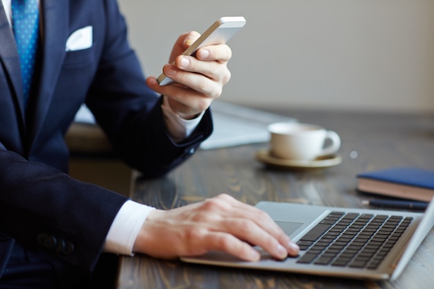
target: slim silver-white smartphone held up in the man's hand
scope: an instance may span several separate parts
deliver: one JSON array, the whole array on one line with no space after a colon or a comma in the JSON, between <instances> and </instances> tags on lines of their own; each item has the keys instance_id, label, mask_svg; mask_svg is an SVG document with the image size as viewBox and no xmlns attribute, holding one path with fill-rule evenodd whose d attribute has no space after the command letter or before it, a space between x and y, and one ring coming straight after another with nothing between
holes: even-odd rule
<instances>
[{"instance_id":1,"label":"slim silver-white smartphone held up in the man's hand","mask_svg":"<svg viewBox=\"0 0 434 289\"><path fill-rule=\"evenodd\" d=\"M193 42L182 55L193 55L198 49L207 45L225 44L235 33L245 25L244 17L221 17L214 22L200 37ZM159 85L172 82L164 73L157 78Z\"/></svg>"}]
</instances>

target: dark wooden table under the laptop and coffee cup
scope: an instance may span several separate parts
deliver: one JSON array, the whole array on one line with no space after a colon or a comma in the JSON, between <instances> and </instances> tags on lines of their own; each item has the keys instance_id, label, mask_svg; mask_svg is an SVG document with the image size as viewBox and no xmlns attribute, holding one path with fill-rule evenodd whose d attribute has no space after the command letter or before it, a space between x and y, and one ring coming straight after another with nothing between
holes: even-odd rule
<instances>
[{"instance_id":1,"label":"dark wooden table under the laptop and coffee cup","mask_svg":"<svg viewBox=\"0 0 434 289\"><path fill-rule=\"evenodd\" d=\"M256 159L259 143L196 155L161 179L137 178L132 198L171 209L229 193L256 204L261 200L338 207L363 207L369 198L355 190L356 174L389 166L434 169L434 116L351 112L278 112L300 122L318 123L340 134L342 163L324 170L278 170ZM357 281L280 272L261 272L148 256L121 257L118 288L434 288L434 234L397 281Z\"/></svg>"}]
</instances>

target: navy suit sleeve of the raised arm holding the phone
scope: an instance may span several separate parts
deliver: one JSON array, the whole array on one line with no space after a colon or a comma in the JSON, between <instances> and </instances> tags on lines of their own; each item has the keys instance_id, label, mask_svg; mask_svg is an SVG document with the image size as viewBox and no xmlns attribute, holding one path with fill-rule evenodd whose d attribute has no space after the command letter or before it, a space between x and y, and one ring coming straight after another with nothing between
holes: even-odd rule
<instances>
[{"instance_id":1,"label":"navy suit sleeve of the raised arm holding the phone","mask_svg":"<svg viewBox=\"0 0 434 289\"><path fill-rule=\"evenodd\" d=\"M157 177L188 158L212 131L206 112L189 139L174 143L164 126L162 98L144 82L137 56L128 46L123 17L114 6L87 105L116 152L148 177Z\"/></svg>"}]
</instances>

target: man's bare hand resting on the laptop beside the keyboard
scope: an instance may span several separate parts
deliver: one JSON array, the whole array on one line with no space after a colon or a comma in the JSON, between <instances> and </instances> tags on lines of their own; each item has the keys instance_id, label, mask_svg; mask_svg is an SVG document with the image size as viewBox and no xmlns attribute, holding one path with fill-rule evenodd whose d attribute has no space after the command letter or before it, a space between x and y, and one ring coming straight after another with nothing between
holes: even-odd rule
<instances>
[{"instance_id":1,"label":"man's bare hand resting on the laptop beside the keyboard","mask_svg":"<svg viewBox=\"0 0 434 289\"><path fill-rule=\"evenodd\" d=\"M258 245L276 259L297 256L299 248L267 213L229 195L150 213L134 243L134 252L163 259L222 251L258 261Z\"/></svg>"}]
</instances>

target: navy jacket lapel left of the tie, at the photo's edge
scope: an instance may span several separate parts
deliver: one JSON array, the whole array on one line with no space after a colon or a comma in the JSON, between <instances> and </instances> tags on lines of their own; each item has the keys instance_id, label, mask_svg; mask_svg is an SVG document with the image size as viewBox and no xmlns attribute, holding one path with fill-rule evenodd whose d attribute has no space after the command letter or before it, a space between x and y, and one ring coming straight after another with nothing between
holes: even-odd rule
<instances>
[{"instance_id":1,"label":"navy jacket lapel left of the tie, at the photo's edge","mask_svg":"<svg viewBox=\"0 0 434 289\"><path fill-rule=\"evenodd\" d=\"M12 84L11 94L12 97L15 97L15 100L19 105L22 121L24 123L23 87L21 85L21 70L19 68L17 44L15 44L15 37L1 1L0 40L0 62L3 63L3 67L6 69L5 73L10 78L10 82Z\"/></svg>"}]
</instances>

